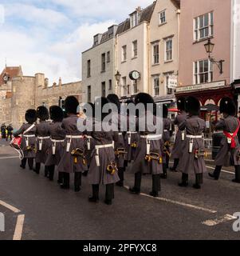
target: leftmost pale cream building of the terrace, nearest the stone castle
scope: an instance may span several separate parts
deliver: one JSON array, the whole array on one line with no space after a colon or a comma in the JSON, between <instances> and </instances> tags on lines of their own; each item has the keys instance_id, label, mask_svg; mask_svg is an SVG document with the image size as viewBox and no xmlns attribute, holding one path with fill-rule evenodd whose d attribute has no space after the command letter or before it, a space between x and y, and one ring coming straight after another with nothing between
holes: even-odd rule
<instances>
[{"instance_id":1,"label":"leftmost pale cream building of the terrace, nearest the stone castle","mask_svg":"<svg viewBox=\"0 0 240 256\"><path fill-rule=\"evenodd\" d=\"M96 34L92 47L82 53L84 102L116 92L116 30L113 25L104 34Z\"/></svg>"}]
</instances>

